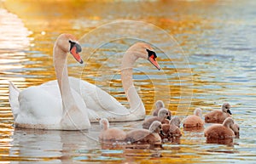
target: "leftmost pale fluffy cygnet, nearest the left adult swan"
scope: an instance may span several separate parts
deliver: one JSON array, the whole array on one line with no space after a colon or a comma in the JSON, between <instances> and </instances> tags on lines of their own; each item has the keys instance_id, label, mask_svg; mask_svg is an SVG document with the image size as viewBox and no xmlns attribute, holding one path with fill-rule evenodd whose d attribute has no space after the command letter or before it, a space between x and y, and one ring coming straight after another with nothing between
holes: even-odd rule
<instances>
[{"instance_id":1,"label":"leftmost pale fluffy cygnet, nearest the left adult swan","mask_svg":"<svg viewBox=\"0 0 256 164\"><path fill-rule=\"evenodd\" d=\"M125 141L126 133L119 128L109 128L108 119L102 118L100 125L102 127L102 132L99 135L101 142Z\"/></svg>"}]
</instances>

